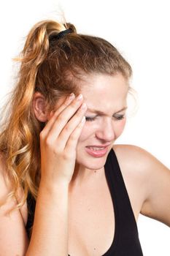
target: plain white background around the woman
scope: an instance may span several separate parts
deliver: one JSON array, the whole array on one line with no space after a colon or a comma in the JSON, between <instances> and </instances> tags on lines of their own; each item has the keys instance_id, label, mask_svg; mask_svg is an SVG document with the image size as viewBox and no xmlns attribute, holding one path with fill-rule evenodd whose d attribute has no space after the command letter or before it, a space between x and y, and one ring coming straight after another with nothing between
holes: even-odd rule
<instances>
[{"instance_id":1,"label":"plain white background around the woman","mask_svg":"<svg viewBox=\"0 0 170 256\"><path fill-rule=\"evenodd\" d=\"M58 18L59 7L77 32L108 39L133 67L137 109L117 143L140 146L170 167L168 0L1 1L0 105L14 83L12 58L21 50L28 30L39 20ZM144 256L170 255L169 227L142 215L138 227Z\"/></svg>"}]
</instances>

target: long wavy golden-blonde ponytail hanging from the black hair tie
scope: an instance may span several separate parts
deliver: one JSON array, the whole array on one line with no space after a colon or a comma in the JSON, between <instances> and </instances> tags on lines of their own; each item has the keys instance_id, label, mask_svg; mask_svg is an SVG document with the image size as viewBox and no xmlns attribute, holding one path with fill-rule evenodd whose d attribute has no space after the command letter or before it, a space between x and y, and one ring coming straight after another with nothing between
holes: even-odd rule
<instances>
[{"instance_id":1,"label":"long wavy golden-blonde ponytail hanging from the black hair tie","mask_svg":"<svg viewBox=\"0 0 170 256\"><path fill-rule=\"evenodd\" d=\"M41 126L31 110L36 86L36 74L45 61L49 50L50 34L58 34L69 27L53 20L43 20L28 33L20 61L18 83L9 102L10 116L0 134L0 151L7 162L7 174L12 183L9 197L17 195L18 188L24 189L24 197L18 207L25 203L28 192L36 199L40 179L39 132Z\"/></svg>"}]
</instances>

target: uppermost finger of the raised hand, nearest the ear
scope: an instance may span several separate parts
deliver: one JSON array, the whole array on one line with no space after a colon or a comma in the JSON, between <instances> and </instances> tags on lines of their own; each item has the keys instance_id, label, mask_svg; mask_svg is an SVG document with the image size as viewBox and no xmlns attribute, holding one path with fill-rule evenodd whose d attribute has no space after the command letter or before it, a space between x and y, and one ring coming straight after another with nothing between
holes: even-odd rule
<instances>
[{"instance_id":1,"label":"uppermost finger of the raised hand, nearest the ear","mask_svg":"<svg viewBox=\"0 0 170 256\"><path fill-rule=\"evenodd\" d=\"M53 124L56 121L57 116L74 100L75 95L72 93L69 97L66 97L66 100L61 104L61 106L56 111L51 111L50 113L50 120L47 121L45 128L43 129L42 133L44 136L48 134L50 129L53 127Z\"/></svg>"}]
</instances>

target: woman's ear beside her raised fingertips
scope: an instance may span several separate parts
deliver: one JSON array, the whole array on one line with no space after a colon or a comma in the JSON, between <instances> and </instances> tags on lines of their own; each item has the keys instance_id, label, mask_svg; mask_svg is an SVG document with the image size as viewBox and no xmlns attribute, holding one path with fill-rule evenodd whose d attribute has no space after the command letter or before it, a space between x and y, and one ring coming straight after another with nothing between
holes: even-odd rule
<instances>
[{"instance_id":1,"label":"woman's ear beside her raised fingertips","mask_svg":"<svg viewBox=\"0 0 170 256\"><path fill-rule=\"evenodd\" d=\"M45 102L45 97L39 92L34 94L33 110L39 121L46 122L48 120L49 112L47 111L47 102Z\"/></svg>"}]
</instances>

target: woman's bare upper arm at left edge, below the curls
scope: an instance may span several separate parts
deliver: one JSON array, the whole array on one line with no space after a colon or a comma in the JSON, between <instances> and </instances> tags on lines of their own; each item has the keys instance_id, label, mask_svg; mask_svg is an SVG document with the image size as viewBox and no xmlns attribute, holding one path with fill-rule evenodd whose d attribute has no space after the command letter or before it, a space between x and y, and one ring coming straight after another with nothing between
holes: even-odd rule
<instances>
[{"instance_id":1,"label":"woman's bare upper arm at left edge, below the curls","mask_svg":"<svg viewBox=\"0 0 170 256\"><path fill-rule=\"evenodd\" d=\"M0 248L1 255L25 255L28 237L20 210L15 209L17 202L7 195L11 192L11 184L7 178L7 167L0 154ZM10 246L9 246L10 244Z\"/></svg>"}]
</instances>

